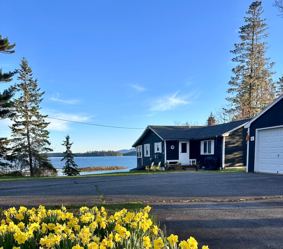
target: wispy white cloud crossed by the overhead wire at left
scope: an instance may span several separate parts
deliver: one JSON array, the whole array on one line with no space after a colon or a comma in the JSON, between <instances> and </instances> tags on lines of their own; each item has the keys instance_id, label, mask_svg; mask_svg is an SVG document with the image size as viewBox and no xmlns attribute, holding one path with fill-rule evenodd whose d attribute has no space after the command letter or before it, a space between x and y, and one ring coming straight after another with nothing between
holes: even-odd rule
<instances>
[{"instance_id":1,"label":"wispy white cloud crossed by the overhead wire at left","mask_svg":"<svg viewBox=\"0 0 283 249\"><path fill-rule=\"evenodd\" d=\"M89 117L85 117L83 115L73 115L66 113L50 114L49 116L53 118L57 118L57 119L49 119L49 118L45 119L45 121L50 122L50 124L48 125L48 130L55 130L55 131L71 130L70 128L71 122L66 120L85 122L89 119ZM65 119L65 120L59 120L59 119Z\"/></svg>"}]
</instances>

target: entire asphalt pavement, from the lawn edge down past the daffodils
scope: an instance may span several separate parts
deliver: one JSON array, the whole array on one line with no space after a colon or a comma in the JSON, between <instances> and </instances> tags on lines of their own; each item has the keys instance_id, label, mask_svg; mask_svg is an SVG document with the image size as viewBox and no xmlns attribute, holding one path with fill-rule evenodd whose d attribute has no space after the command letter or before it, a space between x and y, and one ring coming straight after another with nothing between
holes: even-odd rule
<instances>
[{"instance_id":1,"label":"entire asphalt pavement, from the lawn edge down past the daffodils","mask_svg":"<svg viewBox=\"0 0 283 249\"><path fill-rule=\"evenodd\" d=\"M283 241L282 182L280 175L190 172L0 182L0 206L91 205L98 203L98 189L107 203L148 201L145 205L153 207L168 235L179 240L192 236L199 248L278 249ZM192 202L196 199L201 201Z\"/></svg>"}]
</instances>

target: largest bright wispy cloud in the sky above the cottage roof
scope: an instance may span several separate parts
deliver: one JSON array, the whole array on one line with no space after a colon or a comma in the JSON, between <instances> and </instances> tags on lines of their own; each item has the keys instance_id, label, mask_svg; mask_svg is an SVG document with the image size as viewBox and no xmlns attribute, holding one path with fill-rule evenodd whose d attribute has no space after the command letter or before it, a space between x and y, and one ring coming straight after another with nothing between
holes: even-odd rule
<instances>
[{"instance_id":1,"label":"largest bright wispy cloud in the sky above the cottage roof","mask_svg":"<svg viewBox=\"0 0 283 249\"><path fill-rule=\"evenodd\" d=\"M151 111L166 111L175 108L179 105L186 105L189 104L191 100L196 99L199 94L189 94L189 95L183 95L183 96L177 96L179 92L173 94L173 95L167 95L160 99L157 99L156 101L151 102ZM190 97L194 96L190 101L188 99Z\"/></svg>"}]
</instances>

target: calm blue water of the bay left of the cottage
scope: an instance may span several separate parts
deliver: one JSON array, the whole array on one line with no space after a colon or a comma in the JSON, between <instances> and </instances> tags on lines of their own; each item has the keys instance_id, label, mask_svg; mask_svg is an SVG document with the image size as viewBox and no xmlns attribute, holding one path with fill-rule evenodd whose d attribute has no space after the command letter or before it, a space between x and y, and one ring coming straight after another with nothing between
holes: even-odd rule
<instances>
[{"instance_id":1,"label":"calm blue water of the bay left of the cottage","mask_svg":"<svg viewBox=\"0 0 283 249\"><path fill-rule=\"evenodd\" d=\"M65 166L65 161L61 161L63 157L50 157L51 163L58 171L58 176L63 176L62 168ZM80 172L80 175L101 174L108 172L125 172L137 167L136 156L93 156L93 157L74 157L78 168L84 167L102 167L102 166L122 166L127 169L118 170L100 170L90 172Z\"/></svg>"}]
</instances>

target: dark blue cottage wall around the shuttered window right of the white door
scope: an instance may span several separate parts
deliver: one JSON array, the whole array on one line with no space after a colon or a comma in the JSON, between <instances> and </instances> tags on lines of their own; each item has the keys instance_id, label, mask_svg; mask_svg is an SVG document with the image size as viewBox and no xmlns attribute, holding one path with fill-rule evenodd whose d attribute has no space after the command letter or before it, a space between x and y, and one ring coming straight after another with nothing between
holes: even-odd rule
<instances>
[{"instance_id":1,"label":"dark blue cottage wall around the shuttered window right of the white door","mask_svg":"<svg viewBox=\"0 0 283 249\"><path fill-rule=\"evenodd\" d=\"M200 154L200 141L214 139L214 155L201 155ZM215 138L206 138L198 140L190 140L190 159L196 159L204 166L204 158L207 156L215 156L217 158L216 167L221 166L221 155L222 155L222 137L217 138L217 143Z\"/></svg>"}]
</instances>

